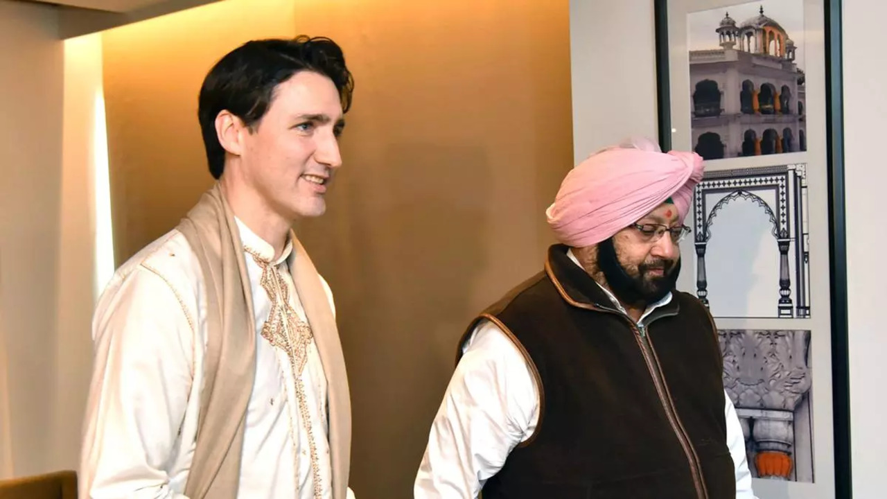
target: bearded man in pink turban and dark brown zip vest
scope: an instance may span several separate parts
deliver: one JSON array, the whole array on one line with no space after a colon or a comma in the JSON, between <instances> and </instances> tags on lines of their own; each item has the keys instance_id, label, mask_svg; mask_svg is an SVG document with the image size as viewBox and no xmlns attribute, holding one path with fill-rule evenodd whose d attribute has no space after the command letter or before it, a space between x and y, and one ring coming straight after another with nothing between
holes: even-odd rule
<instances>
[{"instance_id":1,"label":"bearded man in pink turban and dark brown zip vest","mask_svg":"<svg viewBox=\"0 0 887 499\"><path fill-rule=\"evenodd\" d=\"M675 289L702 177L648 139L569 172L544 270L460 341L414 497L755 497L714 321Z\"/></svg>"}]
</instances>

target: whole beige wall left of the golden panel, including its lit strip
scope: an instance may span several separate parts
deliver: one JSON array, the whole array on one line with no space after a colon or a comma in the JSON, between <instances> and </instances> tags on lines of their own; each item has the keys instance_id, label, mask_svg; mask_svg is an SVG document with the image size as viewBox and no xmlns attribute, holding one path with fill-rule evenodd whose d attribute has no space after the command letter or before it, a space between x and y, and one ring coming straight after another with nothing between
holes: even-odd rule
<instances>
[{"instance_id":1,"label":"whole beige wall left of the golden panel, including its lit strip","mask_svg":"<svg viewBox=\"0 0 887 499\"><path fill-rule=\"evenodd\" d=\"M0 0L2 477L76 469L90 376L101 52L57 21Z\"/></svg>"}]
</instances>

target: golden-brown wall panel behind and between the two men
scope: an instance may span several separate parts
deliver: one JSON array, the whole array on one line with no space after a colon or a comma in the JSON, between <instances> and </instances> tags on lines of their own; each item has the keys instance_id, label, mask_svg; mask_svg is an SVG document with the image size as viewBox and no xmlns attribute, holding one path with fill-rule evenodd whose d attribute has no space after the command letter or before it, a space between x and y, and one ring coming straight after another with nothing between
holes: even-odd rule
<instances>
[{"instance_id":1,"label":"golden-brown wall panel behind and between the two men","mask_svg":"<svg viewBox=\"0 0 887 499\"><path fill-rule=\"evenodd\" d=\"M543 211L572 166L568 4L246 4L106 34L118 257L169 230L210 184L196 98L215 59L254 36L340 42L357 81L345 165L326 216L298 230L339 310L352 485L410 497L457 339L541 268L551 242Z\"/></svg>"}]
</instances>

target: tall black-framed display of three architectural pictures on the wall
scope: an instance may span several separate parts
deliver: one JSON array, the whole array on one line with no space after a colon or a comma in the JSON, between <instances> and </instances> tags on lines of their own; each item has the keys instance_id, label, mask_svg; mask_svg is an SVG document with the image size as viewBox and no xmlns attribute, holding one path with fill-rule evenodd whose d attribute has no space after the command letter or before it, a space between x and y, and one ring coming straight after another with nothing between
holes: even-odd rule
<instances>
[{"instance_id":1,"label":"tall black-framed display of three architectural pictures on the wall","mask_svg":"<svg viewBox=\"0 0 887 499\"><path fill-rule=\"evenodd\" d=\"M660 143L706 170L679 288L717 323L761 499L850 497L840 9L655 0Z\"/></svg>"}]
</instances>

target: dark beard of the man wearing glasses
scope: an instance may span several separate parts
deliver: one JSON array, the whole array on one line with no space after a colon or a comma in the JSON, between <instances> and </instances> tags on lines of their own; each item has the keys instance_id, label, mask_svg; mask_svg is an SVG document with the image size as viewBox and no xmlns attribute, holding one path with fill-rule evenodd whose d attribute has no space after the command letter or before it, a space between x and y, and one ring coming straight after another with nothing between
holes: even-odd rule
<instances>
[{"instance_id":1,"label":"dark beard of the man wearing glasses","mask_svg":"<svg viewBox=\"0 0 887 499\"><path fill-rule=\"evenodd\" d=\"M598 244L597 265L616 298L626 305L641 308L646 308L671 293L680 273L680 258L677 261L660 258L638 265L637 275L632 276L619 262L612 237ZM650 269L655 268L663 268L662 277L646 275Z\"/></svg>"}]
</instances>

